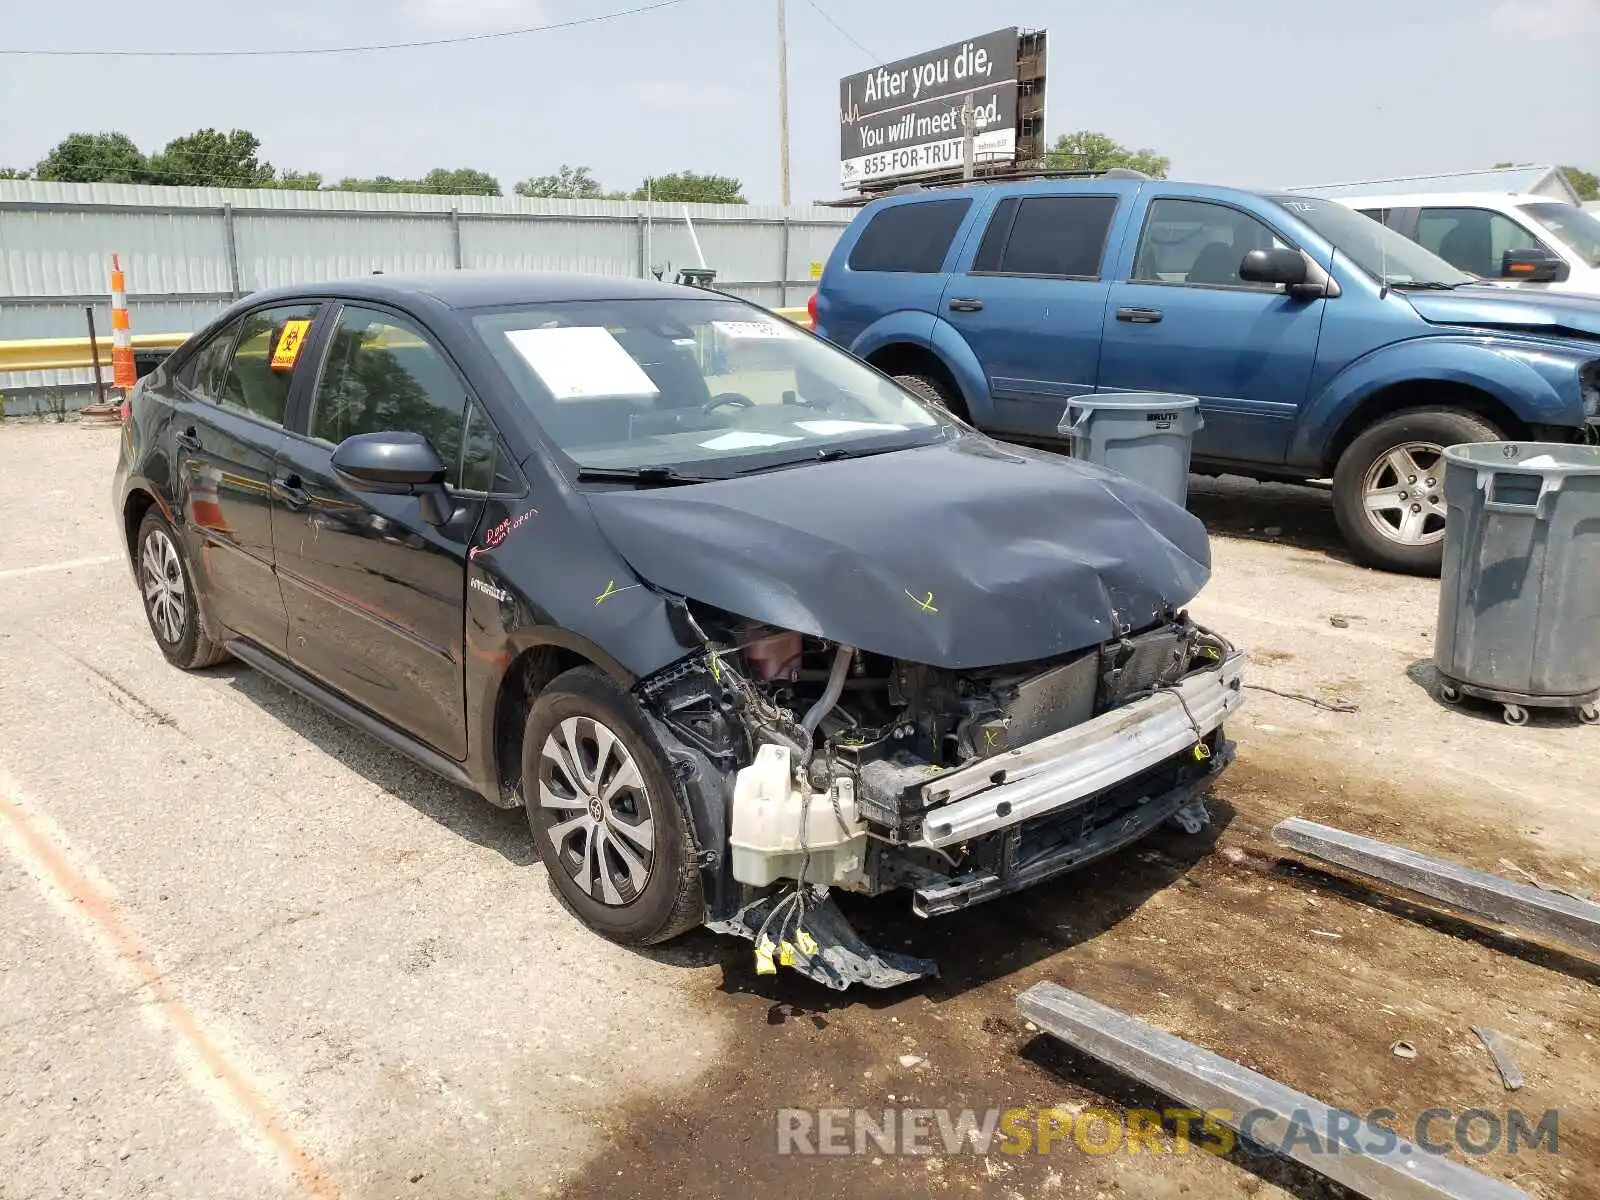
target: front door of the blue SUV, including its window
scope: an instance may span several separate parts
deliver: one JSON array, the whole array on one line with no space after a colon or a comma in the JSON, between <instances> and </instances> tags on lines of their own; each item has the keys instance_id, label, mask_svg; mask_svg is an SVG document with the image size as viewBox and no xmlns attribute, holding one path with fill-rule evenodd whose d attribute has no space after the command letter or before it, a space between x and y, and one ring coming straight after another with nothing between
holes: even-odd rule
<instances>
[{"instance_id":1,"label":"front door of the blue SUV, including its window","mask_svg":"<svg viewBox=\"0 0 1600 1200\"><path fill-rule=\"evenodd\" d=\"M1197 395L1197 458L1282 462L1328 301L1238 278L1248 251L1293 245L1243 208L1160 194L1144 203L1110 286L1101 390Z\"/></svg>"}]
</instances>

